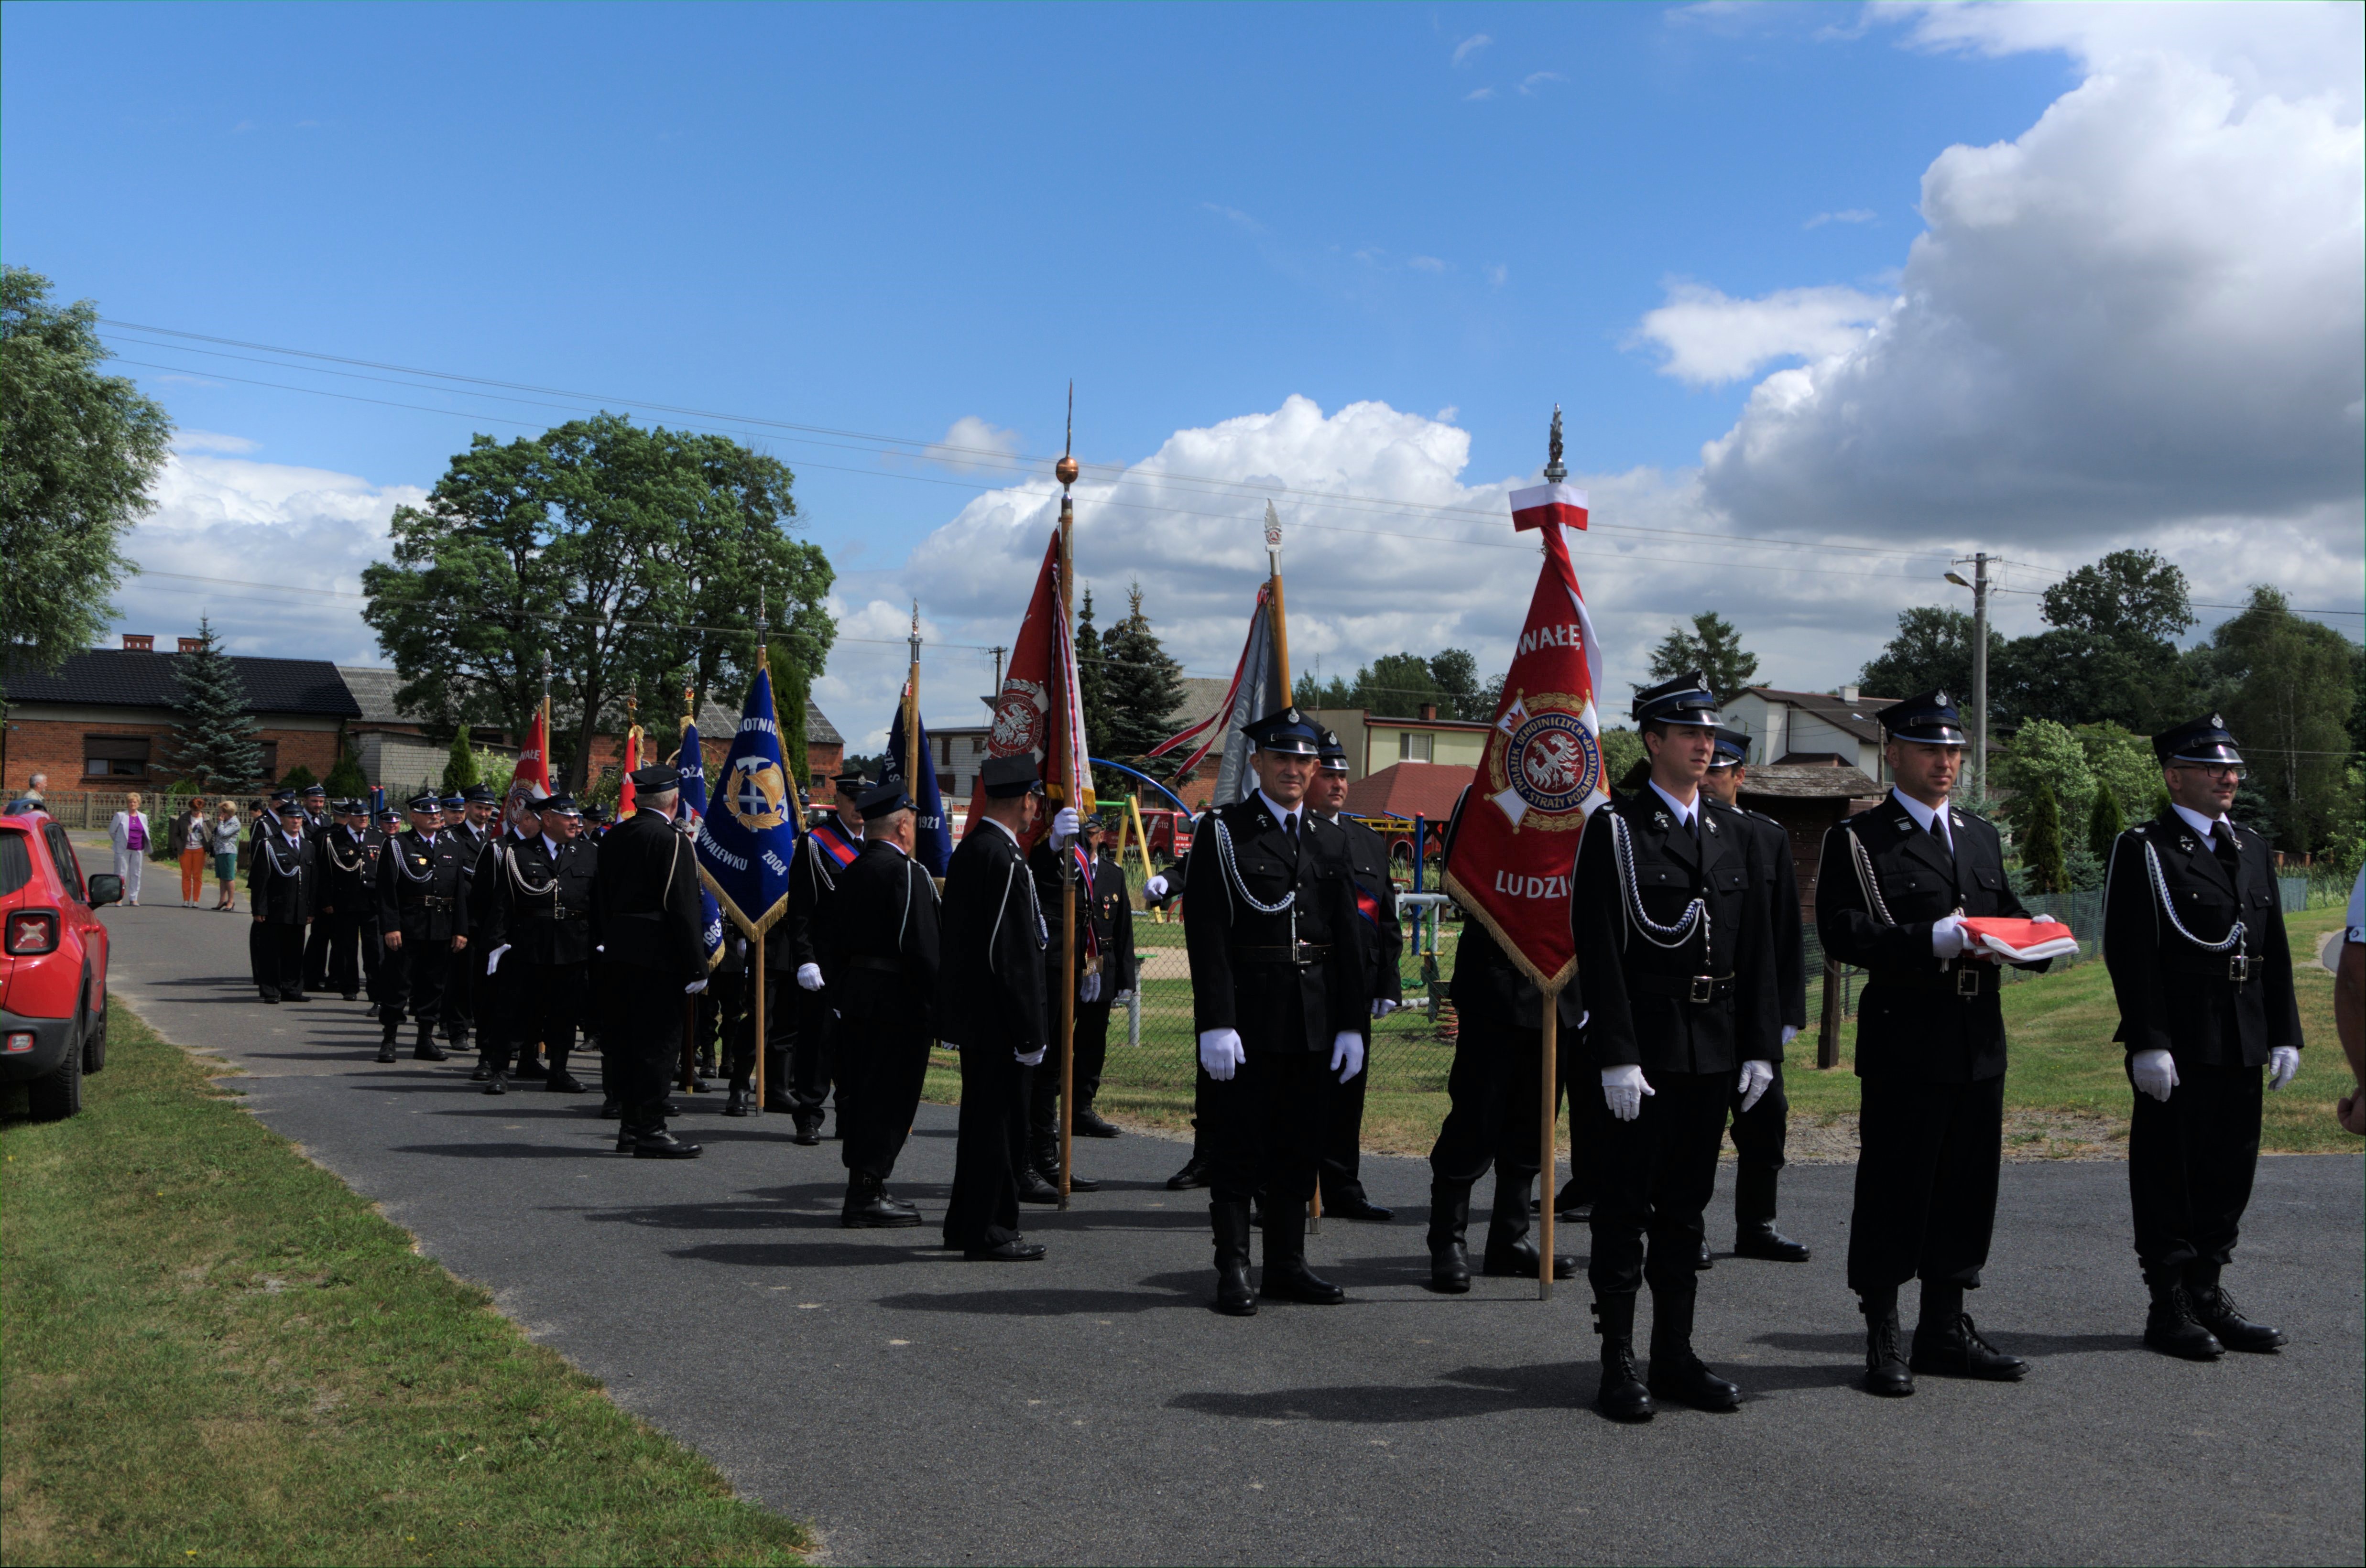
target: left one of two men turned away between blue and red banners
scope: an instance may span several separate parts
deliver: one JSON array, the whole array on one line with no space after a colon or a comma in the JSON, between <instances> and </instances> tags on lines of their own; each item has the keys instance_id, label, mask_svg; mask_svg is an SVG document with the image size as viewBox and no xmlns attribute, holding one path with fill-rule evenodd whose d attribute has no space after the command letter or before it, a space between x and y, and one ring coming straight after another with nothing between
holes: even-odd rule
<instances>
[{"instance_id":1,"label":"left one of two men turned away between blue and red banners","mask_svg":"<svg viewBox=\"0 0 2366 1568\"><path fill-rule=\"evenodd\" d=\"M901 783L868 790L864 851L838 877L830 920L842 979L838 1012L838 1140L847 1166L849 1227L918 1225L920 1211L887 1194L897 1154L920 1109L927 1048L937 1038L937 882L911 858L920 816Z\"/></svg>"}]
</instances>

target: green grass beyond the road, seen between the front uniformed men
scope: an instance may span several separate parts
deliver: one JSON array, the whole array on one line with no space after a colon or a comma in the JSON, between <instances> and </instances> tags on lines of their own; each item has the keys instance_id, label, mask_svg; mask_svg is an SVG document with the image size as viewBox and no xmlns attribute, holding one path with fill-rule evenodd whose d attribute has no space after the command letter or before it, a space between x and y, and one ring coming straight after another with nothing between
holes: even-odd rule
<instances>
[{"instance_id":1,"label":"green grass beyond the road, seen between the front uniformed men","mask_svg":"<svg viewBox=\"0 0 2366 1568\"><path fill-rule=\"evenodd\" d=\"M2349 1093L2349 1064L2333 1036L2333 977L2316 965L2316 941L2338 927L2340 908L2312 908L2286 918L2293 937L2293 972L2300 991L2300 1029L2307 1050L2300 1076L2267 1095L2262 1147L2276 1154L2357 1152L2359 1142L2333 1121L2333 1102ZM1178 946L1181 927L1136 927L1140 946ZM1453 972L1453 927L1443 972ZM1408 1000L1420 996L1408 989ZM1822 1005L1810 989L1808 1015ZM2110 998L2110 974L2101 963L2080 963L2004 989L2004 1026L2011 1071L2004 1104L2006 1138L2030 1154L2110 1152L2127 1138L2129 1086L2122 1052L2110 1043L2120 1012ZM1857 1114L1855 1019L1841 1029L1841 1064L1815 1067L1815 1038L1791 1043L1784 1074L1796 1128L1841 1126ZM1119 1121L1188 1135L1195 1043L1190 1036L1190 981L1150 979L1143 986L1143 1045L1124 1045L1124 1015L1110 1026L1110 1064L1098 1109ZM1365 1097L1365 1147L1427 1154L1446 1119L1446 1069L1453 1045L1422 1015L1386 1019L1372 1043L1372 1086ZM961 1100L951 1052L930 1069L927 1097ZM1566 1133L1564 1133L1566 1138ZM1564 1142L1566 1147L1566 1142Z\"/></svg>"}]
</instances>

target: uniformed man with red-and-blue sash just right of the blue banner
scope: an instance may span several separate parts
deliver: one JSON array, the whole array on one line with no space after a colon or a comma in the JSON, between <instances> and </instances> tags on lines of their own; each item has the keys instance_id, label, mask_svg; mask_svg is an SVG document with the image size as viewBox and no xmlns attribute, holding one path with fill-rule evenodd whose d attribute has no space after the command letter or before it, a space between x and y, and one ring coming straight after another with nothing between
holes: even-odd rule
<instances>
[{"instance_id":1,"label":"uniformed man with red-and-blue sash just right of the blue banner","mask_svg":"<svg viewBox=\"0 0 2366 1568\"><path fill-rule=\"evenodd\" d=\"M788 873L788 918L764 939L764 963L771 972L795 979L795 991L781 993L781 1022L764 1019L771 1036L764 1050L764 1109L788 1112L795 1142L821 1142L821 1114L830 1104L835 1076L838 998L828 986L840 974L838 922L830 899L838 877L864 851L864 814L856 804L871 783L859 769L842 769L833 783L838 809L807 828L797 840L797 861ZM840 1130L845 1102L840 1100Z\"/></svg>"}]
</instances>

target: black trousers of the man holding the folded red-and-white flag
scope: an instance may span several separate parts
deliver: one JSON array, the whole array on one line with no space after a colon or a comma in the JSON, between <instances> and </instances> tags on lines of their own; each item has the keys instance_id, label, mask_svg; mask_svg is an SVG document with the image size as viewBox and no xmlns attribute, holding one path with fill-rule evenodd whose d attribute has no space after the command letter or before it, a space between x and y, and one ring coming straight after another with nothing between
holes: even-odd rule
<instances>
[{"instance_id":1,"label":"black trousers of the man holding the folded red-and-white flag","mask_svg":"<svg viewBox=\"0 0 2366 1568\"><path fill-rule=\"evenodd\" d=\"M1997 1227L2004 1076L1976 1083L1864 1078L1848 1289L1907 1279L1978 1289Z\"/></svg>"}]
</instances>

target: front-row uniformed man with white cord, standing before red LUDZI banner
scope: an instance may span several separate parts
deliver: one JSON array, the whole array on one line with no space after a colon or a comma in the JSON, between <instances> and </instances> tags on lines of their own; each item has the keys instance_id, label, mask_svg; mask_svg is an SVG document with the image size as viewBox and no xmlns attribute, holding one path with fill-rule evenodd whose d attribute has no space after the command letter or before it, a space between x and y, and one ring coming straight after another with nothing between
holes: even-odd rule
<instances>
[{"instance_id":1,"label":"front-row uniformed man with white cord, standing before red LUDZI banner","mask_svg":"<svg viewBox=\"0 0 2366 1568\"><path fill-rule=\"evenodd\" d=\"M1651 1400L1737 1410L1741 1391L1692 1350L1701 1213L1734 1086L1774 1081L1782 1015L1765 885L1739 811L1701 790L1718 700L1699 672L1635 695L1651 771L1585 823L1571 932L1585 984L1585 1055L1611 1119L1597 1126L1592 1211L1597 1405L1621 1421ZM1647 1246L1649 1242L1649 1246ZM1651 1374L1635 1376L1635 1296L1651 1287Z\"/></svg>"}]
</instances>

